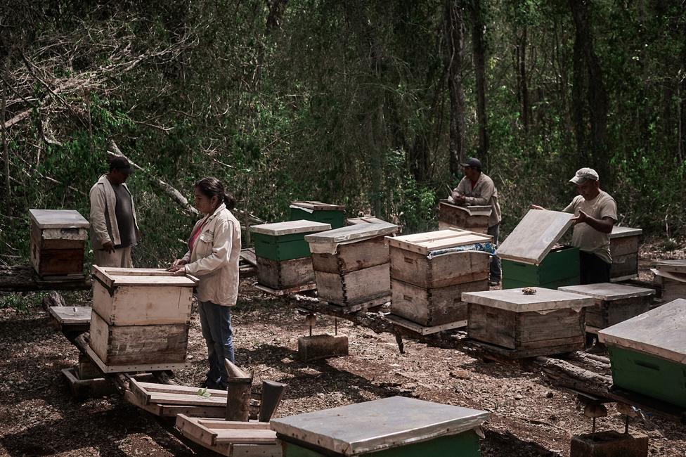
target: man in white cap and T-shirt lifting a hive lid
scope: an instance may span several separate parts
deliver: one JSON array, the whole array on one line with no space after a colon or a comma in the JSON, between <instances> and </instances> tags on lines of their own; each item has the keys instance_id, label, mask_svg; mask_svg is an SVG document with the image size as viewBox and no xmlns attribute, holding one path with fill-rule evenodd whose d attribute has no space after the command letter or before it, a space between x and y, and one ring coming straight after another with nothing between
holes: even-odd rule
<instances>
[{"instance_id":1,"label":"man in white cap and T-shirt lifting a hive lid","mask_svg":"<svg viewBox=\"0 0 686 457\"><path fill-rule=\"evenodd\" d=\"M578 169L569 182L576 184L579 195L562 211L574 213L571 244L580 250L581 283L609 283L610 233L617 221L617 203L609 193L600 190L600 179L593 168Z\"/></svg>"}]
</instances>

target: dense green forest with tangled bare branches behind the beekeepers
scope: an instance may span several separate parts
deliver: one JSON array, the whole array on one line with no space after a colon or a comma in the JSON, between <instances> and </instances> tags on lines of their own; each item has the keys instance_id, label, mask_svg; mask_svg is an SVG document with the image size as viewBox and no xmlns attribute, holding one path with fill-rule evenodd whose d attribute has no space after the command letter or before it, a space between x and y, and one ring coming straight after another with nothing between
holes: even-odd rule
<instances>
[{"instance_id":1,"label":"dense green forest with tangled bare branches behind the beekeepers","mask_svg":"<svg viewBox=\"0 0 686 457\"><path fill-rule=\"evenodd\" d=\"M684 1L6 4L3 262L27 256L29 208L88 214L112 143L145 169L141 266L178 256L193 218L155 179L190 198L217 176L265 221L321 200L416 232L470 155L505 232L566 205L583 166L621 224L686 231Z\"/></svg>"}]
</instances>

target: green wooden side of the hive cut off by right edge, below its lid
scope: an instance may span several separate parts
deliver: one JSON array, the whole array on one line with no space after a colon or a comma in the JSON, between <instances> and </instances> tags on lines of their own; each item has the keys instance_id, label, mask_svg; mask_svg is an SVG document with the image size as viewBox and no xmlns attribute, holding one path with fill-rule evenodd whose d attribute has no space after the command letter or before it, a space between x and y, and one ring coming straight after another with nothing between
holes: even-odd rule
<instances>
[{"instance_id":1,"label":"green wooden side of the hive cut off by right edge, below its lid","mask_svg":"<svg viewBox=\"0 0 686 457\"><path fill-rule=\"evenodd\" d=\"M616 387L686 408L686 365L608 345Z\"/></svg>"}]
</instances>

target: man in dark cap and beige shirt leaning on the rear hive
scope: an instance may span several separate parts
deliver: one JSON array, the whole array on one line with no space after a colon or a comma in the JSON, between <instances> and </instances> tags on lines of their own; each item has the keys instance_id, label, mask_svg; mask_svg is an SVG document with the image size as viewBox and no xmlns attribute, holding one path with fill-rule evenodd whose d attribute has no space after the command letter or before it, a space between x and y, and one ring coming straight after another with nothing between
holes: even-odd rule
<instances>
[{"instance_id":1,"label":"man in dark cap and beige shirt leaning on the rear hive","mask_svg":"<svg viewBox=\"0 0 686 457\"><path fill-rule=\"evenodd\" d=\"M481 161L470 157L467 162L460 164L465 169L465 177L453 189L451 198L456 205L490 206L491 217L488 219L488 235L493 236L493 243L498 245L498 228L500 227L500 204L498 203L498 189L493 179L481 173ZM491 285L500 283L500 259L494 255L491 258Z\"/></svg>"}]
</instances>

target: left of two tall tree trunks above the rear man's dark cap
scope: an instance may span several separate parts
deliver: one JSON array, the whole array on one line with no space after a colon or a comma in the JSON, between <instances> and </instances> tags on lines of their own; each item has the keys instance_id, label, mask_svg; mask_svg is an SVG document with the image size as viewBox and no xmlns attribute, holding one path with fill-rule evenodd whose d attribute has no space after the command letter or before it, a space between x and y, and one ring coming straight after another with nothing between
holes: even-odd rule
<instances>
[{"instance_id":1,"label":"left of two tall tree trunks above the rear man's dark cap","mask_svg":"<svg viewBox=\"0 0 686 457\"><path fill-rule=\"evenodd\" d=\"M465 160L465 92L462 87L462 52L465 38L462 1L446 0L446 42L448 44L448 92L450 94L449 167L453 176L460 174Z\"/></svg>"}]
</instances>

